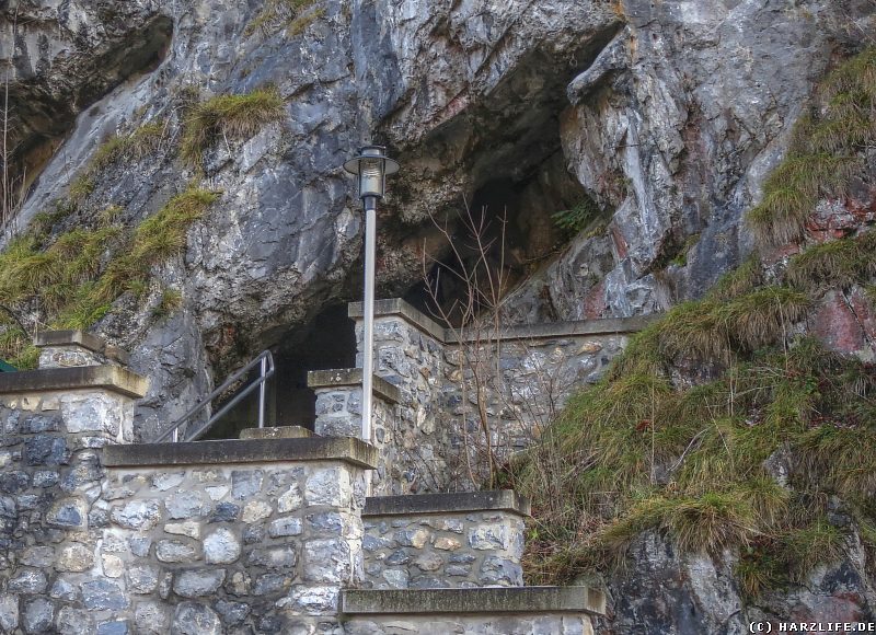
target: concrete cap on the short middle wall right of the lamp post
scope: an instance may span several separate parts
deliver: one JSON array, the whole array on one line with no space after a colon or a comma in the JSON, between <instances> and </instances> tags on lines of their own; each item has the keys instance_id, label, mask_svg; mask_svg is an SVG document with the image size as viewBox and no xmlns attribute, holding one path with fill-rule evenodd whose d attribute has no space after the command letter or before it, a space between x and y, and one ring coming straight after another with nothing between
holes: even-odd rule
<instances>
[{"instance_id":1,"label":"concrete cap on the short middle wall right of the lamp post","mask_svg":"<svg viewBox=\"0 0 876 635\"><path fill-rule=\"evenodd\" d=\"M417 513L453 513L504 510L529 516L529 499L512 489L464 492L459 494L408 494L405 496L370 496L362 516L413 516Z\"/></svg>"}]
</instances>

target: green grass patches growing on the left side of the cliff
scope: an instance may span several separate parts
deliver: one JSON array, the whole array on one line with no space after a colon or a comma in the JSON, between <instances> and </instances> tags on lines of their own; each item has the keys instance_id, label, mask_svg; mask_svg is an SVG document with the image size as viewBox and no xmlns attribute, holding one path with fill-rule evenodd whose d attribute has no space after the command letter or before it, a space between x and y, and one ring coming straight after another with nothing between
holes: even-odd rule
<instances>
[{"instance_id":1,"label":"green grass patches growing on the left side of the cliff","mask_svg":"<svg viewBox=\"0 0 876 635\"><path fill-rule=\"evenodd\" d=\"M270 86L195 102L183 122L182 153L198 162L217 138L249 138L284 113L283 99ZM117 205L92 213L90 222L79 218L106 170L153 154L168 128L168 122L155 120L107 139L72 181L68 197L36 215L28 232L0 254L0 357L19 368L33 368L37 350L20 316L41 327L87 328L123 293L142 295L152 267L184 249L188 228L217 199L216 192L192 185L132 229L118 223L125 210ZM74 213L89 228L60 232L59 226ZM154 316L170 314L180 303L178 291L165 290Z\"/></svg>"}]
</instances>

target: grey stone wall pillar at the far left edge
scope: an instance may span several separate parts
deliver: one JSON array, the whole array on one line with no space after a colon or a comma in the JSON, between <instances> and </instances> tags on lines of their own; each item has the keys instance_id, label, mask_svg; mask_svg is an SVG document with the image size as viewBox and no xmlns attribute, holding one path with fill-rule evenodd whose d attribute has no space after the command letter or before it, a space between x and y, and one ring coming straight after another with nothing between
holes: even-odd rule
<instances>
[{"instance_id":1,"label":"grey stone wall pillar at the far left edge","mask_svg":"<svg viewBox=\"0 0 876 635\"><path fill-rule=\"evenodd\" d=\"M100 540L101 449L131 440L132 407L103 389L0 395L0 632L97 632L66 576L100 566L79 556Z\"/></svg>"}]
</instances>

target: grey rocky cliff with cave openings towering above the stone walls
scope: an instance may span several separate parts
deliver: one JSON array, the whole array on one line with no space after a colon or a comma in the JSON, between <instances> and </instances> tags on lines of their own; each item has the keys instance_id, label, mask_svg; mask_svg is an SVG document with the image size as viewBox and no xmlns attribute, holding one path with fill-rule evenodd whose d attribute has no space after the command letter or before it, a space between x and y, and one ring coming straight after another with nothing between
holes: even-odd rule
<instances>
[{"instance_id":1,"label":"grey rocky cliff with cave openings towering above the stone walls","mask_svg":"<svg viewBox=\"0 0 876 635\"><path fill-rule=\"evenodd\" d=\"M12 0L0 10L7 192L27 193L7 245L35 223L48 235L102 223L124 233L178 209L174 197L192 187L216 193L147 278L105 293L108 307L85 320L152 378L139 413L151 436L215 377L356 296L361 223L341 165L364 142L385 143L403 165L379 221L382 295L417 293L424 257L448 252L430 217L453 235L468 201L507 211L507 263L522 280L509 320L629 316L702 296L751 251L744 213L815 82L873 42L876 7ZM192 160L192 113L209 114L198 104L268 86L279 116L208 122ZM107 150L119 139L138 142ZM587 212L568 235L552 216L573 208ZM112 269L107 254L83 269L85 282ZM26 328L56 316L48 301L15 298ZM672 559L652 546L642 561L652 568ZM730 616L706 623L739 632L737 591L715 591L721 566L698 563L673 569L681 596L722 596ZM636 584L616 588L634 594ZM642 632L703 627L673 611L652 620L632 601L616 611Z\"/></svg>"}]
</instances>

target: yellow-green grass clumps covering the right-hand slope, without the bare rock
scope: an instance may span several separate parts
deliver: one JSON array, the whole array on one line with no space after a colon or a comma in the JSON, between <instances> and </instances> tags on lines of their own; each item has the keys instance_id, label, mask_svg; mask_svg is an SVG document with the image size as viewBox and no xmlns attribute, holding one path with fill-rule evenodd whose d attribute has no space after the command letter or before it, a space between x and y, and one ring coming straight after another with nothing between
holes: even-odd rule
<instances>
[{"instance_id":1,"label":"yellow-green grass clumps covering the right-hand slope, without the bare rock","mask_svg":"<svg viewBox=\"0 0 876 635\"><path fill-rule=\"evenodd\" d=\"M764 244L798 239L816 200L860 166L873 127L862 132L855 118L843 128L840 115L873 106L874 77L867 50L826 80L826 109L804 124L810 138L795 141L749 216ZM873 282L875 241L876 230L811 246L777 279L746 261L632 338L599 384L570 399L510 467L535 501L531 581L606 569L657 530L682 551L739 550L737 579L757 596L843 552L849 528L829 521L831 495L876 549L876 368L798 328L827 289Z\"/></svg>"}]
</instances>

